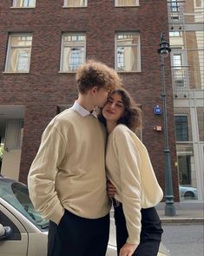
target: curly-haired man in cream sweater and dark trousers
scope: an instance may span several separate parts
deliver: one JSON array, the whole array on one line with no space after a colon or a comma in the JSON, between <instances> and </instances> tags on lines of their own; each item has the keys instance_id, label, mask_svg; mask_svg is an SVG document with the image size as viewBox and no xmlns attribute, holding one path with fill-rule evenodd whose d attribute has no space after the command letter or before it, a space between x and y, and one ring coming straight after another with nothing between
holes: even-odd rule
<instances>
[{"instance_id":1,"label":"curly-haired man in cream sweater and dark trousers","mask_svg":"<svg viewBox=\"0 0 204 256\"><path fill-rule=\"evenodd\" d=\"M48 256L104 256L109 241L106 133L92 114L121 85L113 69L89 61L76 71L78 98L53 118L28 177L30 199L49 219Z\"/></svg>"}]
</instances>

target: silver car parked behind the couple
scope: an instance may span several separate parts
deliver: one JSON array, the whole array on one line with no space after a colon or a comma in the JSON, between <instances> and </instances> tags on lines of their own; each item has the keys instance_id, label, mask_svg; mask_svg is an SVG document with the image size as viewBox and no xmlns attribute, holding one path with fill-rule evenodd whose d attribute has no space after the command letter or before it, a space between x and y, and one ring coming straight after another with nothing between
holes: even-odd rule
<instances>
[{"instance_id":1,"label":"silver car parked behind the couple","mask_svg":"<svg viewBox=\"0 0 204 256\"><path fill-rule=\"evenodd\" d=\"M0 255L45 256L49 221L36 212L26 185L0 178ZM106 256L115 256L115 227L111 219L109 248ZM161 244L158 256L168 256Z\"/></svg>"}]
</instances>

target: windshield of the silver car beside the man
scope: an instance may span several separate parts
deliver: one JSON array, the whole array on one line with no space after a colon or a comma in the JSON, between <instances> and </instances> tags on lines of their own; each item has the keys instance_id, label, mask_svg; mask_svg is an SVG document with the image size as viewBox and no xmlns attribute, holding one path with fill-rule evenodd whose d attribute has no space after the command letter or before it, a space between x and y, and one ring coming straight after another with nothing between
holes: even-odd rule
<instances>
[{"instance_id":1,"label":"windshield of the silver car beside the man","mask_svg":"<svg viewBox=\"0 0 204 256\"><path fill-rule=\"evenodd\" d=\"M18 212L41 229L49 226L49 220L43 219L39 212L36 212L30 201L28 187L20 182L0 183L0 197L12 205Z\"/></svg>"}]
</instances>

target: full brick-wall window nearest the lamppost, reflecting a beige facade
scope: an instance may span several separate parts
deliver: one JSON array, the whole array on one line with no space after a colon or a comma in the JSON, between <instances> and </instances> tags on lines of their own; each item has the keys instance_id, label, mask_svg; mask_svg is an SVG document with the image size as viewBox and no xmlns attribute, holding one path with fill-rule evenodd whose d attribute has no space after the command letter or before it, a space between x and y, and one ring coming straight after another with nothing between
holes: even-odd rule
<instances>
[{"instance_id":1,"label":"full brick-wall window nearest the lamppost, reflecting a beige facade","mask_svg":"<svg viewBox=\"0 0 204 256\"><path fill-rule=\"evenodd\" d=\"M140 34L117 33L115 35L115 41L116 71L141 71Z\"/></svg>"}]
</instances>

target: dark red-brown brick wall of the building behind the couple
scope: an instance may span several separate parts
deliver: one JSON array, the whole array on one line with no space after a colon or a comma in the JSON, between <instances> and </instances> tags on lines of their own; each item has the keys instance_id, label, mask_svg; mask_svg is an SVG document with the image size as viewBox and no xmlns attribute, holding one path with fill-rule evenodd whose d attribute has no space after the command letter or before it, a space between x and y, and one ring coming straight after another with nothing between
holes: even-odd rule
<instances>
[{"instance_id":1,"label":"dark red-brown brick wall of the building behind the couple","mask_svg":"<svg viewBox=\"0 0 204 256\"><path fill-rule=\"evenodd\" d=\"M164 186L163 131L161 116L153 108L161 101L161 58L157 53L160 33L168 35L167 3L140 0L135 8L115 8L113 0L88 1L87 8L64 8L63 1L36 0L35 9L10 9L11 1L1 0L0 12L0 104L25 106L20 180L26 181L40 138L57 104L72 104L77 96L75 74L59 73L62 32L80 31L87 36L88 58L111 67L115 64L115 31L140 31L141 72L122 73L123 84L144 112L143 142L162 187ZM3 73L10 32L33 34L29 74ZM175 162L174 117L169 58L166 60L168 91L168 132L172 158L174 196L178 200Z\"/></svg>"}]
</instances>

